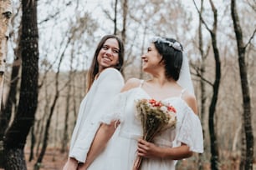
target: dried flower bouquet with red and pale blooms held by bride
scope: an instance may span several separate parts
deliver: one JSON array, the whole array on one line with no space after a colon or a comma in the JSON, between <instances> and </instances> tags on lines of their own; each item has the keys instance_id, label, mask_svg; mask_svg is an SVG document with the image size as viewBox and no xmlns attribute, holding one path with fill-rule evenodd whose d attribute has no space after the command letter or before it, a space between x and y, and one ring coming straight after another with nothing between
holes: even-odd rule
<instances>
[{"instance_id":1,"label":"dried flower bouquet with red and pale blooms held by bride","mask_svg":"<svg viewBox=\"0 0 256 170\"><path fill-rule=\"evenodd\" d=\"M154 99L141 99L136 102L136 117L141 120L143 136L147 142L153 142L157 134L167 128L175 128L176 109L172 105ZM142 158L138 157L134 169L140 169Z\"/></svg>"}]
</instances>

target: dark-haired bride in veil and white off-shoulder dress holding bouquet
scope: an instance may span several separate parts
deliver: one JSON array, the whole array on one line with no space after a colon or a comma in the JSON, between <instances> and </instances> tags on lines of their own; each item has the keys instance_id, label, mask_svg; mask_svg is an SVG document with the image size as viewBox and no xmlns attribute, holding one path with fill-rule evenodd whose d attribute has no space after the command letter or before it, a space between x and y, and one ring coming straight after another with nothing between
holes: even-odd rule
<instances>
[{"instance_id":1,"label":"dark-haired bride in veil and white off-shoulder dress holding bouquet","mask_svg":"<svg viewBox=\"0 0 256 170\"><path fill-rule=\"evenodd\" d=\"M141 57L143 71L151 74L151 79L131 78L125 83L114 107L102 117L87 159L79 165L79 170L136 169L137 157L143 158L143 170L174 170L178 159L203 152L197 101L182 51L182 45L172 38L155 37L151 41ZM152 143L141 139L141 122L136 118L136 101L142 98L172 104L177 111L176 128L166 129Z\"/></svg>"}]
</instances>

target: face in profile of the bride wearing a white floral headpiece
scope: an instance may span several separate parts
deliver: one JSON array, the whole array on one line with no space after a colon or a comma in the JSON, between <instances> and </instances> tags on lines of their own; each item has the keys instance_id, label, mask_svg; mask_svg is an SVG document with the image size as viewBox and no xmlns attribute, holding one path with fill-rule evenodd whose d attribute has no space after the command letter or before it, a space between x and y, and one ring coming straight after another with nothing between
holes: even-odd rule
<instances>
[{"instance_id":1,"label":"face in profile of the bride wearing a white floral headpiece","mask_svg":"<svg viewBox=\"0 0 256 170\"><path fill-rule=\"evenodd\" d=\"M161 55L156 50L155 44L151 43L150 47L147 48L147 52L141 56L142 69L144 72L151 72L156 70L157 67L161 67Z\"/></svg>"}]
</instances>

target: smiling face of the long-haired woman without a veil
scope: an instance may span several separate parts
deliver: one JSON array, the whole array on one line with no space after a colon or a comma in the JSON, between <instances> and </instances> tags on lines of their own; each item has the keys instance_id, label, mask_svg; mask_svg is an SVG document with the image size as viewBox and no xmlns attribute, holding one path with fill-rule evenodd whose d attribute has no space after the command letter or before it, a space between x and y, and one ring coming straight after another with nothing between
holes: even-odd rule
<instances>
[{"instance_id":1,"label":"smiling face of the long-haired woman without a veil","mask_svg":"<svg viewBox=\"0 0 256 170\"><path fill-rule=\"evenodd\" d=\"M114 67L118 64L119 50L119 45L115 38L109 38L105 41L97 57L99 72L106 67Z\"/></svg>"}]
</instances>

